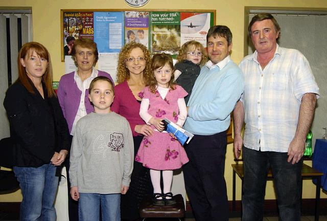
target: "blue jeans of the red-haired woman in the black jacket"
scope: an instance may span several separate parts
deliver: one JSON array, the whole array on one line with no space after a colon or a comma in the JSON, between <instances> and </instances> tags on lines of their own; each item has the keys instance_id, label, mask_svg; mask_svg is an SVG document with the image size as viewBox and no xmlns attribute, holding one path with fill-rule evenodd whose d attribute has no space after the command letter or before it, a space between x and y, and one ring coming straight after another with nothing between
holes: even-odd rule
<instances>
[{"instance_id":1,"label":"blue jeans of the red-haired woman in the black jacket","mask_svg":"<svg viewBox=\"0 0 327 221\"><path fill-rule=\"evenodd\" d=\"M37 168L15 166L13 170L22 193L20 220L56 221L56 167L49 163Z\"/></svg>"}]
</instances>

